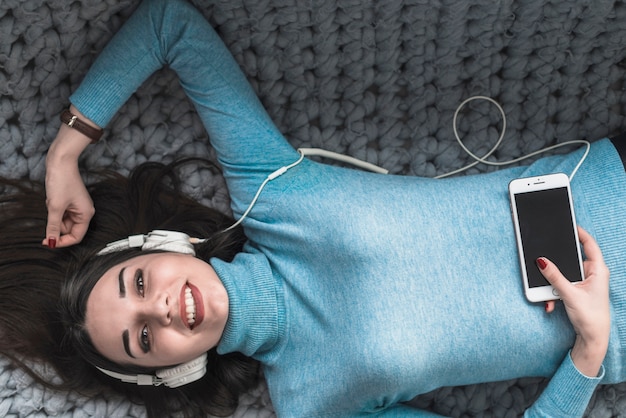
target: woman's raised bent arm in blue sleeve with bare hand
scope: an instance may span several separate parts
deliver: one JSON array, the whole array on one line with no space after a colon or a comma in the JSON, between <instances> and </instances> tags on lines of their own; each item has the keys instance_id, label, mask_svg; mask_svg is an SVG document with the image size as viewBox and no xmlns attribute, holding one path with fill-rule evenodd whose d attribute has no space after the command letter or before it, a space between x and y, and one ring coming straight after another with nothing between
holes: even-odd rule
<instances>
[{"instance_id":1,"label":"woman's raised bent arm in blue sleeve with bare hand","mask_svg":"<svg viewBox=\"0 0 626 418\"><path fill-rule=\"evenodd\" d=\"M144 0L70 100L85 121L106 127L133 92L166 65L194 103L227 180L233 170L252 167L263 175L294 160L295 150L274 126L228 49L183 0ZM50 147L44 243L66 246L80 241L93 213L77 168L88 141L70 138L77 135L63 126Z\"/></svg>"}]
</instances>

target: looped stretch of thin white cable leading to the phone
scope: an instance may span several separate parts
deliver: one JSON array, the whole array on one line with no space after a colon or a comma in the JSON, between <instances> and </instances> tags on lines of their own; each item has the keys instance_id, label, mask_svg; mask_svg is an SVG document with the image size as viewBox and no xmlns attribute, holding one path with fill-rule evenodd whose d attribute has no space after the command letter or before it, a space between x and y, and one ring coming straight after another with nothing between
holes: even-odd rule
<instances>
[{"instance_id":1,"label":"looped stretch of thin white cable leading to the phone","mask_svg":"<svg viewBox=\"0 0 626 418\"><path fill-rule=\"evenodd\" d=\"M502 132L500 133L500 137L496 141L495 145L489 150L489 152L487 152L487 154L483 155L482 157L478 157L473 152L471 152L469 149L467 149L467 147L465 146L465 144L463 144L463 141L459 137L459 132L458 132L457 127L456 127L456 125L457 125L457 118L458 118L459 112L461 111L461 109L467 103L471 102L472 100L487 100L487 101L493 103L498 108L498 110L500 111L500 114L502 115ZM509 164L513 164L513 163L525 160L526 158L534 157L535 155L539 155L539 154L542 154L544 152L551 151L551 150L556 149L556 148L561 148L561 147L564 147L564 146L567 146L567 145L573 145L573 144L583 144L583 145L585 145L587 147L587 149L585 150L585 153L583 154L582 158L580 159L580 161L578 162L578 164L576 165L576 167L574 168L572 173L569 175L569 178L570 178L570 181L571 181L574 178L574 175L576 174L576 172L578 171L580 166L582 165L582 163L587 158L587 155L589 154L589 150L591 148L591 144L589 143L589 141L573 140L573 141L562 142L562 143L556 144L556 145L551 145L549 147L540 149L538 151L531 152L530 154L526 154L526 155L523 155L521 157L514 158L514 159L508 160L508 161L487 161L486 158L488 158L491 154L493 154L498 149L500 144L502 143L502 140L504 139L504 133L506 131L506 114L504 113L504 109L502 109L502 106L500 106L500 104L498 102L496 102L495 100L493 100L492 98L487 97L487 96L472 96L472 97L470 97L468 99L465 99L456 108L456 111L454 112L454 117L452 119L452 129L454 131L454 137L455 137L456 141L459 143L459 145L461 145L461 148L463 148L463 151L465 151L467 153L467 155L472 157L475 161L473 163L471 163L471 164L466 165L465 167L461 167L461 168L459 168L457 170L451 171L449 173L441 174L441 175L435 177L437 179L444 178L444 177L449 177L449 176L452 176L454 174L461 173L461 172L463 172L463 171L465 171L465 170L467 170L467 169L469 169L471 167L474 167L475 165L477 165L479 163L492 165L492 166L509 165Z\"/></svg>"}]
</instances>

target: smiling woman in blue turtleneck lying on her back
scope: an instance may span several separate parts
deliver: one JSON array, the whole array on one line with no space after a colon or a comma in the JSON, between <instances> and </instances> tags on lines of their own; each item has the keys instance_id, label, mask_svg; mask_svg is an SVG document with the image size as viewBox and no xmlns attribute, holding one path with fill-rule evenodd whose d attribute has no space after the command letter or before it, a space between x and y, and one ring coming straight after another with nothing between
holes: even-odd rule
<instances>
[{"instance_id":1,"label":"smiling woman in blue turtleneck lying on her back","mask_svg":"<svg viewBox=\"0 0 626 418\"><path fill-rule=\"evenodd\" d=\"M521 293L506 185L515 177L570 172L581 152L444 181L301 160L215 33L178 1L140 6L72 96L71 113L106 126L165 64L209 132L237 218L265 186L243 221L248 241L232 261L122 252L78 270L76 277L92 287L83 291L83 320L75 324L82 329L71 335L75 344L85 337L92 344L88 361L147 373L213 348L239 352L264 365L281 416L426 416L404 402L440 386L520 376L551 376L529 416L577 416L597 384L625 380L619 258L626 196L615 187L624 169L609 141L593 144L572 183L578 220L599 244L581 230L587 282L570 288L549 260L538 261L566 307L547 316ZM44 239L50 247L75 244L87 230L93 206L76 160L89 141L66 126L50 148ZM197 267L186 271L191 278L159 277L188 265ZM185 287L195 295L186 322ZM127 319L102 320L98 313L111 299ZM179 326L179 341L202 343L166 351L173 324L186 325Z\"/></svg>"}]
</instances>

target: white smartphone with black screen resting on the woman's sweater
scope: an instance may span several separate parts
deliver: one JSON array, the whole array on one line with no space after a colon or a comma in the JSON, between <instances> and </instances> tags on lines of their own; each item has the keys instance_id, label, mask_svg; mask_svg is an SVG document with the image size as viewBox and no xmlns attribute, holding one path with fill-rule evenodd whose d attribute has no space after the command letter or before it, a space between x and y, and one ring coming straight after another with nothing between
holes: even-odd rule
<instances>
[{"instance_id":1,"label":"white smartphone with black screen resting on the woman's sweater","mask_svg":"<svg viewBox=\"0 0 626 418\"><path fill-rule=\"evenodd\" d=\"M536 260L547 257L572 283L584 278L569 178L557 173L515 179L509 194L526 298L559 299Z\"/></svg>"}]
</instances>

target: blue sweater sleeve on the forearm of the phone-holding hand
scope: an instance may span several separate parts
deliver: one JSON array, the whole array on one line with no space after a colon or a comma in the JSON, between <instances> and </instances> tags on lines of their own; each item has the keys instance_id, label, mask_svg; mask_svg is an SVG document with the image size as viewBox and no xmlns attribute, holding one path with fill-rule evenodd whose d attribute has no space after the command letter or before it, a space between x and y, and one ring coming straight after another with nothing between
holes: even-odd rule
<instances>
[{"instance_id":1,"label":"blue sweater sleeve on the forearm of the phone-holding hand","mask_svg":"<svg viewBox=\"0 0 626 418\"><path fill-rule=\"evenodd\" d=\"M548 386L524 417L582 417L603 377L604 366L598 377L587 377L580 373L568 353Z\"/></svg>"}]
</instances>

